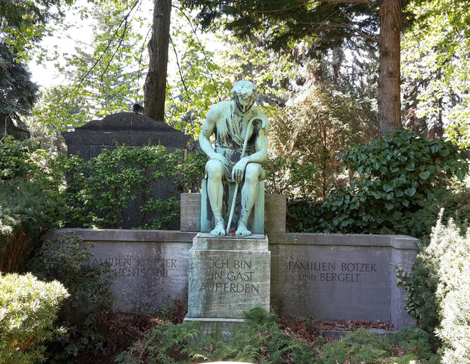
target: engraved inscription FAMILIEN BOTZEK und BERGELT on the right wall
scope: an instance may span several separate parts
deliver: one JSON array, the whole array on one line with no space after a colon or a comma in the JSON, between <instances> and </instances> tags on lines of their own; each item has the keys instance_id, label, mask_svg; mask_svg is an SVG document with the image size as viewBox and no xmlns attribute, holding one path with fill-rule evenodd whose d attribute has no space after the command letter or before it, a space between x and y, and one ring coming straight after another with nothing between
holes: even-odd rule
<instances>
[{"instance_id":1,"label":"engraved inscription FAMILIEN BOTZEK und BERGELT on the right wall","mask_svg":"<svg viewBox=\"0 0 470 364\"><path fill-rule=\"evenodd\" d=\"M318 282L360 282L364 274L378 271L372 262L288 262L288 271L298 272L298 280ZM313 273L314 272L314 273Z\"/></svg>"}]
</instances>

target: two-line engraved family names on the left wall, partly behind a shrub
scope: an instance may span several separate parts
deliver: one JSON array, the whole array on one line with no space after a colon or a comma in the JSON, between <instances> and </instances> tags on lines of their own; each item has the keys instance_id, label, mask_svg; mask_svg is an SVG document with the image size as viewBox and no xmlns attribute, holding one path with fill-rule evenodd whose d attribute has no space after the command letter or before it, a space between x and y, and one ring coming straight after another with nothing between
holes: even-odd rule
<instances>
[{"instance_id":1,"label":"two-line engraved family names on the left wall, partly behind a shrub","mask_svg":"<svg viewBox=\"0 0 470 364\"><path fill-rule=\"evenodd\" d=\"M91 264L108 262L117 277L168 278L178 262L171 258L93 258Z\"/></svg>"}]
</instances>

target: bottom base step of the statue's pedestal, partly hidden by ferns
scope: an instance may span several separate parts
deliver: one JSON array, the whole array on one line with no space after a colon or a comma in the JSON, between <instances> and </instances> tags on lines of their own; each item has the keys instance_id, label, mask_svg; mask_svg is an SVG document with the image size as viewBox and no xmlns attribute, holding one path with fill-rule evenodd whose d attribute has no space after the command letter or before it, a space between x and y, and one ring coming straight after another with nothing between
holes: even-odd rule
<instances>
[{"instance_id":1,"label":"bottom base step of the statue's pedestal, partly hidden by ferns","mask_svg":"<svg viewBox=\"0 0 470 364\"><path fill-rule=\"evenodd\" d=\"M184 318L185 323L190 321L199 323L197 329L201 334L195 342L201 342L208 336L226 342L235 335L237 329L244 323L242 318L192 318L188 316Z\"/></svg>"}]
</instances>

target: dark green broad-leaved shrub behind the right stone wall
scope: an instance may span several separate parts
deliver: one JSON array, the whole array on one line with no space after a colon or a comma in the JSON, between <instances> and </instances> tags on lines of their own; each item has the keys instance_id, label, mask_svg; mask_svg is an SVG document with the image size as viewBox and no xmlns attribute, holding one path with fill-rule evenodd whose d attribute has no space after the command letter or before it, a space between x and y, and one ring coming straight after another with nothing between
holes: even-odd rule
<instances>
[{"instance_id":1,"label":"dark green broad-leaved shrub behind the right stone wall","mask_svg":"<svg viewBox=\"0 0 470 364\"><path fill-rule=\"evenodd\" d=\"M435 182L453 175L462 180L469 169L467 155L451 142L427 140L405 129L369 146L355 146L343 160L360 177L325 200L320 211L322 231L393 231L402 218L410 218L435 198Z\"/></svg>"}]
</instances>

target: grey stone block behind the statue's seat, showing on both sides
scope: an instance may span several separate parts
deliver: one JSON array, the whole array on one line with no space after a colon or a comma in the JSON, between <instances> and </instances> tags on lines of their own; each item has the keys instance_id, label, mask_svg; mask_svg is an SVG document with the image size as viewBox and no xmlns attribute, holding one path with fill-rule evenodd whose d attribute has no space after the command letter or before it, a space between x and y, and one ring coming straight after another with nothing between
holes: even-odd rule
<instances>
[{"instance_id":1,"label":"grey stone block behind the statue's seat, showing on both sides","mask_svg":"<svg viewBox=\"0 0 470 364\"><path fill-rule=\"evenodd\" d=\"M206 206L208 202L206 202ZM197 214L197 218L196 218ZM201 193L181 194L181 231L201 230ZM286 231L286 196L264 195L264 233Z\"/></svg>"}]
</instances>

